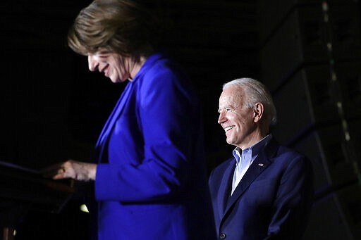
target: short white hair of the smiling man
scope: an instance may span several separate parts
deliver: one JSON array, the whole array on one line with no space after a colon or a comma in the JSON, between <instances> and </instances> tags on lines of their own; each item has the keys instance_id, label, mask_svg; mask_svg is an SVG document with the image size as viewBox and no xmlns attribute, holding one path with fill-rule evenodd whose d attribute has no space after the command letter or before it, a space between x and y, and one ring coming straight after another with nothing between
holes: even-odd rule
<instances>
[{"instance_id":1,"label":"short white hair of the smiling man","mask_svg":"<svg viewBox=\"0 0 361 240\"><path fill-rule=\"evenodd\" d=\"M249 108L253 108L255 103L264 105L264 113L270 125L276 124L277 114L274 101L268 89L262 82L252 78L239 78L223 85L223 89L228 87L242 87L246 94L245 104Z\"/></svg>"}]
</instances>

